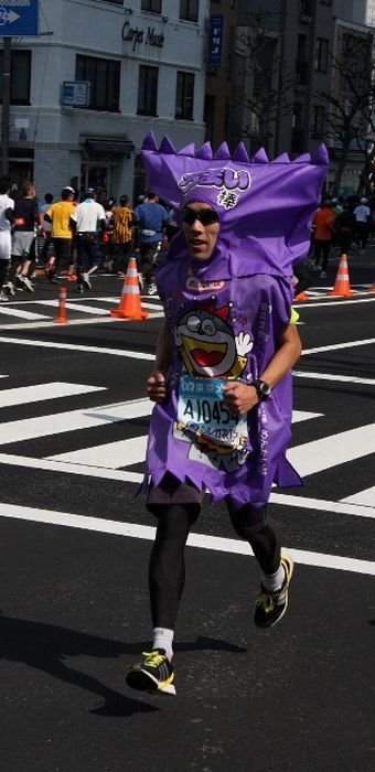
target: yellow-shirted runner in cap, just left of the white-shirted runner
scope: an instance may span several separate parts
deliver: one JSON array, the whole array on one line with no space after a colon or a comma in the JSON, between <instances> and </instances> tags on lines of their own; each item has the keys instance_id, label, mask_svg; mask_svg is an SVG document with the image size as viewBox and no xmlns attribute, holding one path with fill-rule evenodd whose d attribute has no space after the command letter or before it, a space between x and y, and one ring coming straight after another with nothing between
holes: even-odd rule
<instances>
[{"instance_id":1,"label":"yellow-shirted runner in cap, just left of the white-shirted runner","mask_svg":"<svg viewBox=\"0 0 375 772\"><path fill-rule=\"evenodd\" d=\"M51 238L55 251L55 260L46 269L46 276L52 283L58 282L60 270L66 270L67 275L73 274L74 270L71 227L71 217L75 208L74 196L74 189L66 185L62 190L61 201L52 204L43 215L44 221L51 223Z\"/></svg>"}]
</instances>

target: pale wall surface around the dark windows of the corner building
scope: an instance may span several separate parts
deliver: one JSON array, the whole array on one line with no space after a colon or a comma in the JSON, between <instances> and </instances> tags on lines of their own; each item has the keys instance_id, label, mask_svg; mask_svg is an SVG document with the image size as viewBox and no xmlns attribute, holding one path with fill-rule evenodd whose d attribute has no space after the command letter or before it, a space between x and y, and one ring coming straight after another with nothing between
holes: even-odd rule
<instances>
[{"instance_id":1,"label":"pale wall surface around the dark windows of the corner building","mask_svg":"<svg viewBox=\"0 0 375 772\"><path fill-rule=\"evenodd\" d=\"M32 50L31 106L12 106L10 142L34 151L34 182L38 194L55 195L79 176L83 138L127 138L139 152L146 133L152 129L159 139L169 135L178 148L204 141L204 88L206 20L208 0L200 1L197 23L178 19L180 3L163 0L162 17L141 12L141 1L127 9L105 0L40 0L40 36L14 41L18 47ZM138 42L122 40L122 28L138 31ZM147 42L148 29L163 35L163 45ZM64 81L75 79L76 54L117 60L121 63L119 112L63 107L61 89ZM138 116L139 66L159 67L158 117ZM193 120L175 120L178 69L194 73ZM17 119L26 118L29 127L20 140ZM132 194L135 153L116 156L118 196Z\"/></svg>"}]
</instances>

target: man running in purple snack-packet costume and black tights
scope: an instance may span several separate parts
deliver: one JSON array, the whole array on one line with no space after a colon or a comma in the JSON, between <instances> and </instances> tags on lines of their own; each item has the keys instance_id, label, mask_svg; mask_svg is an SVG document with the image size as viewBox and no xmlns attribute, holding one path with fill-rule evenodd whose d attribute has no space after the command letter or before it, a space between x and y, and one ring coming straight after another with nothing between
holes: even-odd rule
<instances>
[{"instance_id":1,"label":"man running in purple snack-packet costume and black tights","mask_svg":"<svg viewBox=\"0 0 375 772\"><path fill-rule=\"evenodd\" d=\"M148 179L176 210L182 230L156 276L165 318L147 382L156 403L141 489L157 518L152 644L126 679L135 689L174 695L184 550L206 492L225 505L259 566L255 624L269 629L287 611L293 561L281 553L267 503L275 483L301 484L286 458L291 368L301 352L291 275L307 253L328 157L253 163L243 147L234 157L221 148L213 158L208 143L194 156L189 148L173 153L168 138L159 151L150 144Z\"/></svg>"}]
</instances>

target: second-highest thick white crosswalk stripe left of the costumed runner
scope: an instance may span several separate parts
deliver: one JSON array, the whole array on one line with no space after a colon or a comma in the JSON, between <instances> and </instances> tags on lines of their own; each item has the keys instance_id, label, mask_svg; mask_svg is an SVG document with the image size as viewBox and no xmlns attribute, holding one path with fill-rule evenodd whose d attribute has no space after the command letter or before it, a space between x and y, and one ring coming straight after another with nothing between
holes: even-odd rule
<instances>
[{"instance_id":1,"label":"second-highest thick white crosswalk stripe left of the costumed runner","mask_svg":"<svg viewBox=\"0 0 375 772\"><path fill-rule=\"evenodd\" d=\"M18 421L6 421L1 425L0 446L149 416L152 407L149 399L133 399L116 405L101 405L36 418L24 418Z\"/></svg>"}]
</instances>

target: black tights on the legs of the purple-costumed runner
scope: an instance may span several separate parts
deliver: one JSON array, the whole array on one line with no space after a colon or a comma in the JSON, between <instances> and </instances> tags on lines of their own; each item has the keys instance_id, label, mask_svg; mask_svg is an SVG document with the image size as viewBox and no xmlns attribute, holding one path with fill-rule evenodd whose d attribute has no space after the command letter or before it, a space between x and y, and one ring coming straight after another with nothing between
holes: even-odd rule
<instances>
[{"instance_id":1,"label":"black tights on the legs of the purple-costumed runner","mask_svg":"<svg viewBox=\"0 0 375 772\"><path fill-rule=\"evenodd\" d=\"M179 604L185 583L184 549L189 532L200 514L196 504L153 506L158 516L157 536L149 565L149 589L152 624L174 630ZM277 524L267 525L254 534L247 524L248 507L229 512L232 524L240 538L249 543L264 573L275 573L280 565L281 537Z\"/></svg>"}]
</instances>

